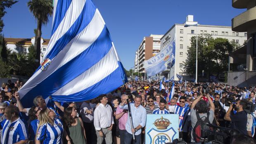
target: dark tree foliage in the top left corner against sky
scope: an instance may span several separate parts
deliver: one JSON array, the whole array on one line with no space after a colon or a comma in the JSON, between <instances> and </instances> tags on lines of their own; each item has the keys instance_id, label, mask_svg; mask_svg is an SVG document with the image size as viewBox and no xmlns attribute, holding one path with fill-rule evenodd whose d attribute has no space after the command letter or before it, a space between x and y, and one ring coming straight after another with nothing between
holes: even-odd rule
<instances>
[{"instance_id":1,"label":"dark tree foliage in the top left corner against sky","mask_svg":"<svg viewBox=\"0 0 256 144\"><path fill-rule=\"evenodd\" d=\"M0 0L0 33L2 32L2 28L5 26L2 20L2 17L6 14L5 8L12 7L16 2L17 1L14 0Z\"/></svg>"}]
</instances>

